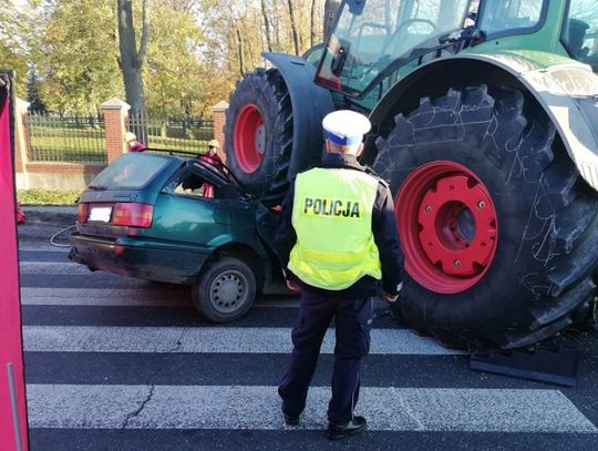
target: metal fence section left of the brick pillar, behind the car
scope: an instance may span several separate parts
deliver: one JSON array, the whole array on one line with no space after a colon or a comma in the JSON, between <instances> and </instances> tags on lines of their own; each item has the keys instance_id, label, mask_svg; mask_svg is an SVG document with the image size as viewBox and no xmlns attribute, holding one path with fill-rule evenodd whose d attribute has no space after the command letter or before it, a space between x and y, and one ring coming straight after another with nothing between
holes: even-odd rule
<instances>
[{"instance_id":1,"label":"metal fence section left of the brick pillar, behind the car","mask_svg":"<svg viewBox=\"0 0 598 451\"><path fill-rule=\"evenodd\" d=\"M104 117L29 114L24 125L32 162L106 164Z\"/></svg>"}]
</instances>

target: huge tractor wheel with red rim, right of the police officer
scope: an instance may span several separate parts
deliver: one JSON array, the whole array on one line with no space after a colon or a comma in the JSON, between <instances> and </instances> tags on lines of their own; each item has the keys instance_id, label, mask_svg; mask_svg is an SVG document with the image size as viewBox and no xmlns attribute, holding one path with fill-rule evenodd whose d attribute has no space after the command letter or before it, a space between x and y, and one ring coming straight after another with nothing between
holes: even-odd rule
<instances>
[{"instance_id":1,"label":"huge tractor wheel with red rim, right of the police officer","mask_svg":"<svg viewBox=\"0 0 598 451\"><path fill-rule=\"evenodd\" d=\"M515 89L422 99L377 141L405 256L393 307L461 348L518 348L592 298L598 196L548 116Z\"/></svg>"}]
</instances>

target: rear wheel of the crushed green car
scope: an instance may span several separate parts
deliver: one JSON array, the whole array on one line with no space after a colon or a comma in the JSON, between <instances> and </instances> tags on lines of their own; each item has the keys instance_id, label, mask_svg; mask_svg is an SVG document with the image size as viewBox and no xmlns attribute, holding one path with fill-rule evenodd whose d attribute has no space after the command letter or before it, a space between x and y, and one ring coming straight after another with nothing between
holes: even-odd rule
<instances>
[{"instance_id":1,"label":"rear wheel of the crushed green car","mask_svg":"<svg viewBox=\"0 0 598 451\"><path fill-rule=\"evenodd\" d=\"M210 264L193 286L197 310L215 322L243 317L256 297L256 277L249 266L237 258L225 257Z\"/></svg>"}]
</instances>

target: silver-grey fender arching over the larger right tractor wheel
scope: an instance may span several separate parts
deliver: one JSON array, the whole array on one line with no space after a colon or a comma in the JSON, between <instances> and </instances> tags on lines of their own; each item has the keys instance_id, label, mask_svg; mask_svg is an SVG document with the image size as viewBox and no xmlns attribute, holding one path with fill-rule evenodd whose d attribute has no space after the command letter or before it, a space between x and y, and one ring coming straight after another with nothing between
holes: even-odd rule
<instances>
[{"instance_id":1,"label":"silver-grey fender arching over the larger right tractor wheel","mask_svg":"<svg viewBox=\"0 0 598 451\"><path fill-rule=\"evenodd\" d=\"M423 64L398 82L370 115L374 126L410 111L415 96L465 84L507 84L529 92L555 125L584 180L598 191L598 76L568 60L540 66L515 54L458 54ZM436 92L441 95L442 92Z\"/></svg>"}]
</instances>

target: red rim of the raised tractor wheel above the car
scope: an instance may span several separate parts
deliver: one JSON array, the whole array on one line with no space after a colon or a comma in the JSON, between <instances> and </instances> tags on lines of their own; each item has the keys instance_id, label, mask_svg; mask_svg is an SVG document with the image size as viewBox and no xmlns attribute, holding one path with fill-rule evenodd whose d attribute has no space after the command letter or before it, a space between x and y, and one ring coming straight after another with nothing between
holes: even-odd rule
<instances>
[{"instance_id":1,"label":"red rim of the raised tractor wheel above the car","mask_svg":"<svg viewBox=\"0 0 598 451\"><path fill-rule=\"evenodd\" d=\"M261 163L266 147L264 120L255 104L248 103L239 112L234 140L235 155L240 168L248 174L255 172Z\"/></svg>"}]
</instances>

